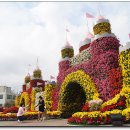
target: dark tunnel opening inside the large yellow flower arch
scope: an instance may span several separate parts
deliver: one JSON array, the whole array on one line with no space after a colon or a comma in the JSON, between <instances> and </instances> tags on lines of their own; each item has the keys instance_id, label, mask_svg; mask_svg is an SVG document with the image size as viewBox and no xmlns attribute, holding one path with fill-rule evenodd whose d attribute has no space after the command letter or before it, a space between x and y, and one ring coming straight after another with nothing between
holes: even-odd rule
<instances>
[{"instance_id":1,"label":"dark tunnel opening inside the large yellow flower arch","mask_svg":"<svg viewBox=\"0 0 130 130\"><path fill-rule=\"evenodd\" d=\"M70 82L64 92L63 103L66 109L62 111L62 117L69 117L75 112L80 112L86 102L86 94L77 82Z\"/></svg>"}]
</instances>

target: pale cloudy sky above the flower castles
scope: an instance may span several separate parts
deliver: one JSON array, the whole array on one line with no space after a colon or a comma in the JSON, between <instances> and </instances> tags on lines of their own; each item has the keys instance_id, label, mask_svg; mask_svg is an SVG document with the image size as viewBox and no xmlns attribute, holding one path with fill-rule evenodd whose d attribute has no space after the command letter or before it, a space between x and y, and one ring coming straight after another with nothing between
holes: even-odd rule
<instances>
[{"instance_id":1,"label":"pale cloudy sky above the flower castles","mask_svg":"<svg viewBox=\"0 0 130 130\"><path fill-rule=\"evenodd\" d=\"M76 55L87 34L86 12L95 16L88 20L92 33L100 10L125 45L130 41L129 7L130 2L0 2L0 85L21 91L24 77L36 68L37 57L43 79L57 77L65 30L70 31L67 38Z\"/></svg>"}]
</instances>

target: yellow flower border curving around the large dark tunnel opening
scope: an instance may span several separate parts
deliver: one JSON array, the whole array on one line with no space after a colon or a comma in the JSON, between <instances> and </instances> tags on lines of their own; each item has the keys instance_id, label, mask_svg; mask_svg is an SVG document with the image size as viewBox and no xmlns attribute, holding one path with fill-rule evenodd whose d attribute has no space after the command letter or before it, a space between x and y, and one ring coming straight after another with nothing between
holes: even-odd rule
<instances>
[{"instance_id":1,"label":"yellow flower border curving around the large dark tunnel opening","mask_svg":"<svg viewBox=\"0 0 130 130\"><path fill-rule=\"evenodd\" d=\"M63 81L60 89L60 101L59 101L59 110L62 111L62 109L65 109L64 104L64 92L66 90L67 85L70 82L77 82L81 85L83 90L86 94L86 102L93 100L93 99L99 99L99 93L96 89L96 85L92 81L89 75L87 75L84 71L78 70L76 72L72 72L68 74Z\"/></svg>"}]
</instances>

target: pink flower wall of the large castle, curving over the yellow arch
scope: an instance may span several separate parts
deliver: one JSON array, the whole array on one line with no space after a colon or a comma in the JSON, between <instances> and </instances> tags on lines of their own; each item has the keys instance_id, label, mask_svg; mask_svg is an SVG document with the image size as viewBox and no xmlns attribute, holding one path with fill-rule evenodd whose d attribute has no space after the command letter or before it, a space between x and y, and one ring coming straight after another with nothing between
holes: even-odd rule
<instances>
[{"instance_id":1,"label":"pink flower wall of the large castle, curving over the yellow arch","mask_svg":"<svg viewBox=\"0 0 130 130\"><path fill-rule=\"evenodd\" d=\"M60 62L57 84L61 87L68 74L83 70L96 84L100 98L108 101L122 88L122 75L118 63L119 41L115 37L98 38L90 44L90 52L92 58L82 64L70 67L69 60L66 60L66 65L64 61ZM66 69L63 66L66 66ZM114 73L113 76L110 73Z\"/></svg>"}]
</instances>

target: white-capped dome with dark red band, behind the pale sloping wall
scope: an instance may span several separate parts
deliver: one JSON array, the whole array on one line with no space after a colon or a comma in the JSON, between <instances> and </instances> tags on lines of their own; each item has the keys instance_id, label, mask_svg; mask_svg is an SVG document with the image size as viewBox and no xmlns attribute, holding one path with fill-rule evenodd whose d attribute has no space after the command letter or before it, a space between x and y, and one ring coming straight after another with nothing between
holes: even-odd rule
<instances>
[{"instance_id":1,"label":"white-capped dome with dark red band, behind the pale sloping wall","mask_svg":"<svg viewBox=\"0 0 130 130\"><path fill-rule=\"evenodd\" d=\"M94 36L90 32L87 33L86 38L83 41L81 41L79 44L79 52L87 49L90 46L91 39L93 37Z\"/></svg>"}]
</instances>

